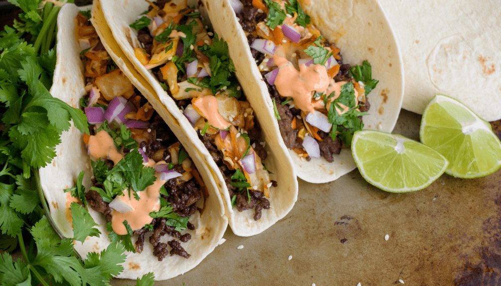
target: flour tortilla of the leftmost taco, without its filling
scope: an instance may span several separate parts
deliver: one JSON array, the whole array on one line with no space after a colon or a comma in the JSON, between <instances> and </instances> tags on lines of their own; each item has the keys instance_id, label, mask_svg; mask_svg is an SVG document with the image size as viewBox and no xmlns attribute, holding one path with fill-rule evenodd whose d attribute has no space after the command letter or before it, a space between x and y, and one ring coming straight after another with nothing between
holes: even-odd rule
<instances>
[{"instance_id":1,"label":"flour tortilla of the leftmost taco, without its filling","mask_svg":"<svg viewBox=\"0 0 501 286\"><path fill-rule=\"evenodd\" d=\"M83 9L88 10L88 9ZM54 84L51 94L73 107L79 106L80 98L86 94L84 89L83 65L80 61L80 46L75 35L75 17L79 9L73 4L65 5L58 16L58 45L57 45L57 65L54 72ZM94 23L95 24L95 23ZM117 48L116 42L108 41L103 38L102 32L98 31L104 47L110 53L115 55L115 63L122 71L131 66L130 62L121 50ZM115 53L116 52L116 53ZM120 60L120 57L123 60ZM118 60L117 60L118 59ZM144 79L138 77L138 80L129 77L132 83L142 92L152 92ZM203 215L200 217L196 212L190 217L190 222L195 225L195 230L188 230L191 233L191 239L182 243L184 249L191 254L186 259L179 255L166 256L162 261L152 254L152 245L145 239L142 253L127 253L126 261L122 264L124 271L118 276L120 278L137 278L148 272L153 272L156 280L163 280L174 277L195 267L219 244L226 230L227 218L224 216L223 202L218 193L218 186L212 175L202 161L201 156L191 141L182 133L180 126L170 120L168 112L164 110L158 100L150 100L155 110L170 123L169 127L177 134L177 138L188 151L194 164L207 186L209 197L206 201L206 207ZM170 122L169 122L170 120ZM56 148L57 157L51 164L40 170L40 181L44 194L49 202L51 216L55 221L59 232L66 237L73 237L71 223L66 215L66 193L64 189L75 185L80 171L85 170L83 185L90 189L90 159L82 139L83 135L74 126L68 131L63 132L61 136L62 143ZM98 229L101 231L100 237L90 237L83 244L76 241L75 249L85 258L88 252L101 251L110 243L108 231L105 228L105 218L102 214L89 208L94 220L100 224ZM162 242L166 242L170 237L163 237ZM135 242L134 238L133 241Z\"/></svg>"}]
</instances>

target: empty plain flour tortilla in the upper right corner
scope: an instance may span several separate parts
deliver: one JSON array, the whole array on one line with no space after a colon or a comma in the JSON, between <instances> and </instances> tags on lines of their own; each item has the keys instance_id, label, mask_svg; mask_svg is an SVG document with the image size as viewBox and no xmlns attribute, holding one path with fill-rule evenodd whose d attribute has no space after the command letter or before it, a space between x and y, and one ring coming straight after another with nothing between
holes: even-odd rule
<instances>
[{"instance_id":1,"label":"empty plain flour tortilla in the upper right corner","mask_svg":"<svg viewBox=\"0 0 501 286\"><path fill-rule=\"evenodd\" d=\"M402 108L422 114L437 94L501 119L501 2L381 0L402 49Z\"/></svg>"}]
</instances>

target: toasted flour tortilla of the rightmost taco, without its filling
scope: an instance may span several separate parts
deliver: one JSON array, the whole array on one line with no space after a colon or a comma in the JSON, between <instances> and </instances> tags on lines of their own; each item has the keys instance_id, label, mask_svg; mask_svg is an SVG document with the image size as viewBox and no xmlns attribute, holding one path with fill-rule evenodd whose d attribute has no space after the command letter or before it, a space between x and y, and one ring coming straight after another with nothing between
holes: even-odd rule
<instances>
[{"instance_id":1,"label":"toasted flour tortilla of the rightmost taco, without its filling","mask_svg":"<svg viewBox=\"0 0 501 286\"><path fill-rule=\"evenodd\" d=\"M230 56L241 59L235 62L236 76L241 83L246 83L247 88L261 94L261 104L253 106L263 107L263 112L267 112L270 120L276 122L267 85L229 1L202 2L215 31L221 33L228 42ZM404 74L399 46L379 2L305 0L300 3L322 35L341 49L344 63L361 65L364 60L369 61L372 78L379 80L379 83L368 95L371 108L369 115L363 117L365 128L391 132L402 104ZM280 131L276 131L276 134L282 141ZM324 158L302 160L293 150L289 152L298 177L311 183L336 180L357 167L349 148L343 148L339 155L334 154L332 163Z\"/></svg>"}]
</instances>

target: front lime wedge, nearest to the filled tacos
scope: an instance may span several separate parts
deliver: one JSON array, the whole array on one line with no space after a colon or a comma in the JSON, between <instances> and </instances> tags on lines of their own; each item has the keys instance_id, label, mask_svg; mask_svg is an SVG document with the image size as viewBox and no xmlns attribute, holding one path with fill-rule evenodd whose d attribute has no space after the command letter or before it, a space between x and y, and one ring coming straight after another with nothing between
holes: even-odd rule
<instances>
[{"instance_id":1,"label":"front lime wedge, nearest to the filled tacos","mask_svg":"<svg viewBox=\"0 0 501 286\"><path fill-rule=\"evenodd\" d=\"M351 150L362 176L388 192L425 188L447 167L447 160L430 147L374 130L355 132Z\"/></svg>"}]
</instances>

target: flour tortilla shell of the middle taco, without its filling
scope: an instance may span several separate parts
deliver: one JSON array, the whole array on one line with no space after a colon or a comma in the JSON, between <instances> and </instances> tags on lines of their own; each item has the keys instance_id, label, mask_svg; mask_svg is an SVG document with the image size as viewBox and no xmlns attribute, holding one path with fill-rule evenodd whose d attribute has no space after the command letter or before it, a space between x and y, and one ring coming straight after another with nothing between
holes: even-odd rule
<instances>
[{"instance_id":1,"label":"flour tortilla shell of the middle taco, without its filling","mask_svg":"<svg viewBox=\"0 0 501 286\"><path fill-rule=\"evenodd\" d=\"M195 6L197 3L198 1L188 1L190 7ZM275 173L270 174L270 178L278 183L278 187L272 188L270 191L270 209L263 209L261 219L255 221L253 218L254 209L239 212L236 208L233 209L231 207L231 198L224 184L224 179L212 159L212 156L198 139L196 131L176 106L174 100L163 90L156 78L151 75L134 56L134 48L140 47L140 43L137 40L137 32L131 29L129 25L137 20L138 15L148 9L149 4L144 0L107 0L102 2L95 0L94 6L104 14L107 25L109 29L111 29L113 37L122 48L123 53L132 62L134 68L155 89L156 95L161 99L171 115L179 122L186 136L191 138L192 143L196 145L197 149L201 152L201 156L204 158L207 168L214 176L215 181L218 182L218 184L220 183L219 191L223 197L225 214L228 217L228 223L233 233L239 236L258 234L283 218L292 209L297 200L298 182L287 148L282 140L279 140L277 137L277 122L269 120L268 111L262 108L262 101L259 99L256 100L258 97L251 96L257 94L258 91L248 85L247 79L239 78L241 87L247 95L247 100L254 108L264 133L264 139L266 141L265 149L268 151L268 158L264 162L268 169ZM201 12L204 13L203 7L201 7L201 9ZM95 17L95 14L93 14L93 17ZM100 26L99 23L97 23L97 25ZM218 32L219 37L222 36L226 41L231 40L225 37L223 32L219 33L220 29L216 27L214 27L214 29ZM228 44L230 43L228 42ZM234 54L230 54L230 57L233 59L235 66L237 62L242 60L241 58L235 57ZM147 94L144 95L147 96Z\"/></svg>"}]
</instances>

